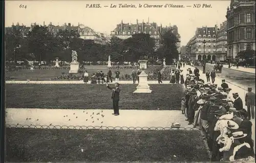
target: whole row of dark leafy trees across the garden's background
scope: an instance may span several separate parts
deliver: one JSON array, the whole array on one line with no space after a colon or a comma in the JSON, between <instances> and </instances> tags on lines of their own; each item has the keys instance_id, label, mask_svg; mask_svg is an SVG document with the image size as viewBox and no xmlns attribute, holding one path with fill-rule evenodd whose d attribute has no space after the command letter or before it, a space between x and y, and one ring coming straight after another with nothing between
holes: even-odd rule
<instances>
[{"instance_id":1,"label":"whole row of dark leafy trees across the garden's background","mask_svg":"<svg viewBox=\"0 0 256 163\"><path fill-rule=\"evenodd\" d=\"M176 43L178 39L172 29L161 34L160 39L154 39L149 34L134 34L127 39L112 37L106 44L95 43L94 40L79 38L73 30L59 30L53 33L47 27L35 26L28 35L13 28L5 34L6 60L8 61L41 61L52 62L56 57L61 61L71 61L72 50L78 54L78 61L111 61L137 62L147 58L166 58L166 63L178 59Z\"/></svg>"}]
</instances>

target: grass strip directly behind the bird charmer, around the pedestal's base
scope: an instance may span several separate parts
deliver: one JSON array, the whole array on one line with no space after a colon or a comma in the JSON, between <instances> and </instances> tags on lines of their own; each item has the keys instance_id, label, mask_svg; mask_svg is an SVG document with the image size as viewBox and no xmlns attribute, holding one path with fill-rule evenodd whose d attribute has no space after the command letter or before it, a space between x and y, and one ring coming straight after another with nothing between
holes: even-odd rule
<instances>
[{"instance_id":1,"label":"grass strip directly behind the bird charmer, around the pedestal's base","mask_svg":"<svg viewBox=\"0 0 256 163\"><path fill-rule=\"evenodd\" d=\"M180 109L181 84L150 85L152 94L133 94L136 86L120 86L120 109ZM104 84L6 84L6 107L112 109L111 94Z\"/></svg>"}]
</instances>

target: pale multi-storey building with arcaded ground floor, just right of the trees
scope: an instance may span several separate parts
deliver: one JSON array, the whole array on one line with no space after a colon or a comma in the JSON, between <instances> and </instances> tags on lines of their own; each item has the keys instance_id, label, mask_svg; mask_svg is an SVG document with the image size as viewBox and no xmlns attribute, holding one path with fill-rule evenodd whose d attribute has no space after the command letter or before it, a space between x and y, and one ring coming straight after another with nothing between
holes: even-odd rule
<instances>
[{"instance_id":1,"label":"pale multi-storey building with arcaded ground floor, just right of the trees","mask_svg":"<svg viewBox=\"0 0 256 163\"><path fill-rule=\"evenodd\" d=\"M195 35L186 45L191 60L219 60L219 56L216 54L217 31L217 25L197 28Z\"/></svg>"}]
</instances>

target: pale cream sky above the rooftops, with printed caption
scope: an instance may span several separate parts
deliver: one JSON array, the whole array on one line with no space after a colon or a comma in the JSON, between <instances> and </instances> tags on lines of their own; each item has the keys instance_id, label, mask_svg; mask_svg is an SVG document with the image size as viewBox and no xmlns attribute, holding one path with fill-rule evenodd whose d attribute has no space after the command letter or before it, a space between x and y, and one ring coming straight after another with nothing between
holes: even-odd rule
<instances>
[{"instance_id":1,"label":"pale cream sky above the rooftops, with printed caption","mask_svg":"<svg viewBox=\"0 0 256 163\"><path fill-rule=\"evenodd\" d=\"M101 8L89 8L99 4ZM136 8L119 8L119 4L134 5ZM139 7L140 5L141 7ZM166 4L183 5L183 8L165 7ZM194 8L200 4L201 7ZM116 5L116 8L111 8ZM163 5L148 8L148 5ZM209 6L210 5L210 6ZM163 27L176 25L181 35L181 45L186 45L195 35L196 28L215 27L226 20L226 9L230 1L5 1L5 27L19 22L30 26L32 22L62 26L65 22L74 26L83 24L96 32L110 34L117 24L136 24L148 21ZM26 6L26 8L25 8ZM95 5L97 6L97 5ZM107 6L107 7L104 7ZM187 7L191 6L191 7ZM206 8L207 7L207 8Z\"/></svg>"}]
</instances>

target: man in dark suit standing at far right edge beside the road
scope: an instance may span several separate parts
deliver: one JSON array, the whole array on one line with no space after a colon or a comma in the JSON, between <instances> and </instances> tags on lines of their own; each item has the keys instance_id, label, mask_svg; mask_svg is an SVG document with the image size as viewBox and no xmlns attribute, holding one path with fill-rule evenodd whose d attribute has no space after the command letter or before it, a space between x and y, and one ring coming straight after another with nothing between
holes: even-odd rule
<instances>
[{"instance_id":1,"label":"man in dark suit standing at far right edge beside the road","mask_svg":"<svg viewBox=\"0 0 256 163\"><path fill-rule=\"evenodd\" d=\"M255 106L255 94L251 91L252 88L248 88L248 92L245 95L245 105L248 111L248 120L254 119L254 106Z\"/></svg>"}]
</instances>

